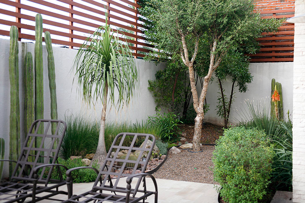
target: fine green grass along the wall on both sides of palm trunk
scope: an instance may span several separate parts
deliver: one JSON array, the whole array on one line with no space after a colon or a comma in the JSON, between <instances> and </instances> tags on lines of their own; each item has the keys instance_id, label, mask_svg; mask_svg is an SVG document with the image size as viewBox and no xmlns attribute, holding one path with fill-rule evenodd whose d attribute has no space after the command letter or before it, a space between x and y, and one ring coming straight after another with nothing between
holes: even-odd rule
<instances>
[{"instance_id":1,"label":"fine green grass along the wall on both sides of palm trunk","mask_svg":"<svg viewBox=\"0 0 305 203\"><path fill-rule=\"evenodd\" d=\"M95 153L99 140L98 122L90 121L81 115L74 116L73 114L66 115L65 121L67 123L67 129L60 149L61 156L64 159L68 159L70 156L84 157L88 153ZM148 133L159 138L161 129L151 127L147 122L137 122L135 124L107 123L105 128L106 151L109 150L115 136L121 132ZM131 142L132 140L126 139L126 143L124 144L127 146ZM140 146L142 142L142 139L138 139L135 145Z\"/></svg>"}]
</instances>

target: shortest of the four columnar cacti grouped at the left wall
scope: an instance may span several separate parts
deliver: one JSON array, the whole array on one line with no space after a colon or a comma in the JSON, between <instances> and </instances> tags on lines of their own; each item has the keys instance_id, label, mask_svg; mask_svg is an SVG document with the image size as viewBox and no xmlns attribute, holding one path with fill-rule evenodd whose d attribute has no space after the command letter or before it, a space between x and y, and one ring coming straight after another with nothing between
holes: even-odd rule
<instances>
[{"instance_id":1,"label":"shortest of the four columnar cacti grouped at the left wall","mask_svg":"<svg viewBox=\"0 0 305 203\"><path fill-rule=\"evenodd\" d=\"M34 70L31 52L25 54L24 63L24 135L34 121Z\"/></svg>"}]
</instances>

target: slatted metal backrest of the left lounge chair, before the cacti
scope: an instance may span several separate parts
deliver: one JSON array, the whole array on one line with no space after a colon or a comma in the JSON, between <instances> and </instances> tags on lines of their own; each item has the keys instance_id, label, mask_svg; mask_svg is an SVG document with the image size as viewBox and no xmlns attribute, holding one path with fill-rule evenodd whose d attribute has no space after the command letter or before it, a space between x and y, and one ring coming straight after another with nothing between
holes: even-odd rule
<instances>
[{"instance_id":1,"label":"slatted metal backrest of the left lounge chair, before the cacti","mask_svg":"<svg viewBox=\"0 0 305 203\"><path fill-rule=\"evenodd\" d=\"M54 134L51 133L52 125L56 126ZM34 121L21 148L11 180L33 181L33 169L36 166L55 163L65 131L66 123L64 121L46 119ZM38 174L38 183L47 184L52 170L53 166L42 168L41 173Z\"/></svg>"}]
</instances>

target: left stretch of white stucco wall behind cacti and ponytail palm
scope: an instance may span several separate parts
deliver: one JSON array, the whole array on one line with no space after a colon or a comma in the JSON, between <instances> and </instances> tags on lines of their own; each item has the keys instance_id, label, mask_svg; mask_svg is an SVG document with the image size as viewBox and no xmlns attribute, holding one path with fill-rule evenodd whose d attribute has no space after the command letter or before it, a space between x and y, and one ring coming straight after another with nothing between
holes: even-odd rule
<instances>
[{"instance_id":1,"label":"left stretch of white stucco wall behind cacti and ponytail palm","mask_svg":"<svg viewBox=\"0 0 305 203\"><path fill-rule=\"evenodd\" d=\"M9 113L10 113L10 82L9 82L9 40L0 39L0 137L5 138L5 159L9 158ZM20 120L23 126L23 81L22 64L23 57L30 51L34 57L33 43L19 43L19 80L20 80ZM101 104L95 107L88 107L81 99L77 91L77 82L73 84L74 71L71 71L74 57L77 50L53 47L56 72L56 94L58 118L64 120L66 112L74 115L81 113L91 119L100 119ZM44 63L44 117L50 118L50 91L48 86L47 51L43 46ZM152 94L148 91L148 80L155 79L157 70L164 67L164 64L155 65L153 62L136 59L138 68L140 87L136 97L132 99L129 108L125 107L117 113L114 108L106 116L106 121L128 122L146 120L148 115L155 114L155 103ZM110 109L110 105L107 106ZM23 129L21 129L21 139L24 139ZM5 164L4 176L8 175L8 165Z\"/></svg>"}]
</instances>

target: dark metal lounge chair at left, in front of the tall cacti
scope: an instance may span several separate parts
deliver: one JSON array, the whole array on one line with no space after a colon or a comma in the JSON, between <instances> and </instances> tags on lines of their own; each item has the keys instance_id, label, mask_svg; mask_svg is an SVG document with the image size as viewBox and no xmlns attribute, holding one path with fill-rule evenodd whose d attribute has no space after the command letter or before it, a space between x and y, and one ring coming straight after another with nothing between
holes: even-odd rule
<instances>
[{"instance_id":1,"label":"dark metal lounge chair at left, in front of the tall cacti","mask_svg":"<svg viewBox=\"0 0 305 203\"><path fill-rule=\"evenodd\" d=\"M51 133L51 125L56 125L54 135ZM61 130L59 130L60 128ZM55 164L65 131L66 123L64 121L45 119L34 121L27 134L25 144L21 148L18 160L0 160L16 163L10 180L0 184L0 202L16 201L21 203L28 197L32 197L32 202L41 199L57 200L51 197L56 194L67 194L65 191L58 190L58 187L65 185L66 181L61 176L59 165ZM34 140L38 140L38 142L34 142ZM39 142L40 146L35 146ZM46 166L44 165L46 163L52 163L53 165L43 167ZM67 170L65 166L63 167ZM51 179L51 173L56 169L61 180ZM39 175L37 172L39 172ZM48 187L49 182L56 184ZM43 192L46 192L43 197L36 196Z\"/></svg>"}]
</instances>

